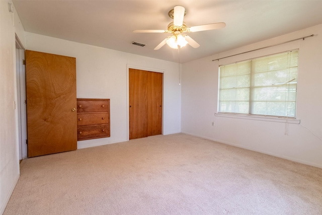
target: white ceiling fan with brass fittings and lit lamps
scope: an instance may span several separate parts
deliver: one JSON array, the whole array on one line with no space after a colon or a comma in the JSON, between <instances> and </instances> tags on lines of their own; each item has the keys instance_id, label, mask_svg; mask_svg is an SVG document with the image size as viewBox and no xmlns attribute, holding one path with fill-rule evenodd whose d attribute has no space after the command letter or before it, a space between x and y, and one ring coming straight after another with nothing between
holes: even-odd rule
<instances>
[{"instance_id":1,"label":"white ceiling fan with brass fittings and lit lamps","mask_svg":"<svg viewBox=\"0 0 322 215\"><path fill-rule=\"evenodd\" d=\"M186 15L185 8L182 6L176 6L169 12L169 16L174 20L168 25L167 30L134 30L134 33L171 33L171 36L168 36L160 44L158 44L154 50L157 50L164 46L166 43L171 47L177 49L178 46L183 47L186 44L191 45L194 48L198 48L200 45L192 39L187 34L182 34L185 32L197 32L197 31L207 31L213 29L224 28L225 23L212 23L206 25L198 25L193 27L188 27L183 21L184 16Z\"/></svg>"}]
</instances>

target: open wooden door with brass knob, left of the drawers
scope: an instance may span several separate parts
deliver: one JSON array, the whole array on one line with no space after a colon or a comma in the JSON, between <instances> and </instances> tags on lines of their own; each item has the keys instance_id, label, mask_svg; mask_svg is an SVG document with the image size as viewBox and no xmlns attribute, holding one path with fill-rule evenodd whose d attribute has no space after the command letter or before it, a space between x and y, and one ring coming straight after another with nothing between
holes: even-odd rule
<instances>
[{"instance_id":1,"label":"open wooden door with brass knob, left of the drawers","mask_svg":"<svg viewBox=\"0 0 322 215\"><path fill-rule=\"evenodd\" d=\"M76 59L26 50L28 157L77 149Z\"/></svg>"}]
</instances>

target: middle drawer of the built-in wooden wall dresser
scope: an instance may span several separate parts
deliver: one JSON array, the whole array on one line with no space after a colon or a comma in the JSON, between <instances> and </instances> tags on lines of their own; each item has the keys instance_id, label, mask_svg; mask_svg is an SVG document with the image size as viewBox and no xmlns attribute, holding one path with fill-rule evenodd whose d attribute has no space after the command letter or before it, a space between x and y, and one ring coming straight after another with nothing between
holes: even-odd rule
<instances>
[{"instance_id":1,"label":"middle drawer of the built-in wooden wall dresser","mask_svg":"<svg viewBox=\"0 0 322 215\"><path fill-rule=\"evenodd\" d=\"M108 119L108 113L78 113L77 125L107 124Z\"/></svg>"}]
</instances>

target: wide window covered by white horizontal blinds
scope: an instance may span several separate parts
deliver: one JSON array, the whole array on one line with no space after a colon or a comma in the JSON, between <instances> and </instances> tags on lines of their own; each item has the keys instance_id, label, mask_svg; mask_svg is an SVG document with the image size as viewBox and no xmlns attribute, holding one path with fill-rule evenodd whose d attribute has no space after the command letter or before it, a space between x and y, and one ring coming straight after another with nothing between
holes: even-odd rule
<instances>
[{"instance_id":1,"label":"wide window covered by white horizontal blinds","mask_svg":"<svg viewBox=\"0 0 322 215\"><path fill-rule=\"evenodd\" d=\"M219 113L295 118L298 50L219 66Z\"/></svg>"}]
</instances>

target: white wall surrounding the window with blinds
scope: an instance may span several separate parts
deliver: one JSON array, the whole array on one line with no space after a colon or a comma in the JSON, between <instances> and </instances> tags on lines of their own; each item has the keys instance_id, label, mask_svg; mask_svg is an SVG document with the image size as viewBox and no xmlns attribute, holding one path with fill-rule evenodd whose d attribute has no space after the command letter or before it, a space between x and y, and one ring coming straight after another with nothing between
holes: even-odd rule
<instances>
[{"instance_id":1,"label":"white wall surrounding the window with blinds","mask_svg":"<svg viewBox=\"0 0 322 215\"><path fill-rule=\"evenodd\" d=\"M314 34L305 40L240 54ZM300 124L215 116L218 65L299 48ZM212 126L214 122L214 126ZM322 168L322 25L183 64L182 132Z\"/></svg>"}]
</instances>

